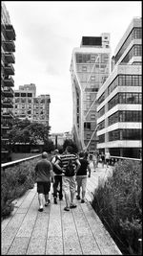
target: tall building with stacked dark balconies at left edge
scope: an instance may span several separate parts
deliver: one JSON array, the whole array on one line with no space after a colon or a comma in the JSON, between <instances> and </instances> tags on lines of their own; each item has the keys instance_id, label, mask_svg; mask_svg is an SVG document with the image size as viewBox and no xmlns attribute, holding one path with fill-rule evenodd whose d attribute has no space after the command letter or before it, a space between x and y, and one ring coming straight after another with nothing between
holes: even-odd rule
<instances>
[{"instance_id":1,"label":"tall building with stacked dark balconies at left edge","mask_svg":"<svg viewBox=\"0 0 143 256\"><path fill-rule=\"evenodd\" d=\"M15 58L15 31L4 3L1 9L1 161L10 159L9 130L11 128Z\"/></svg>"}]
</instances>

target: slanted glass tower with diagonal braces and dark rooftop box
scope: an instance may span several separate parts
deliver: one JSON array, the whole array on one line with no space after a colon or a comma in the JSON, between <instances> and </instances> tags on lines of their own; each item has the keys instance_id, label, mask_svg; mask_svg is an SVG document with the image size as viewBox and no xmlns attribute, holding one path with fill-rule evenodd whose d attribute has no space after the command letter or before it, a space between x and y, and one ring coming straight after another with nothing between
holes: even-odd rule
<instances>
[{"instance_id":1,"label":"slanted glass tower with diagonal braces and dark rooftop box","mask_svg":"<svg viewBox=\"0 0 143 256\"><path fill-rule=\"evenodd\" d=\"M72 133L79 149L96 148L96 95L110 74L110 34L83 36L72 51Z\"/></svg>"}]
</instances>

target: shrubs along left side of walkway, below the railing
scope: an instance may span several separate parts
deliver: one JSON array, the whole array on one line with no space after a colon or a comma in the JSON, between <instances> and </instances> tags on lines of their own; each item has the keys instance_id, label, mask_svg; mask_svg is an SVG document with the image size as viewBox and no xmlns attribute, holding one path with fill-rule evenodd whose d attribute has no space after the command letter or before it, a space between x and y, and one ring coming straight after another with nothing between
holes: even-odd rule
<instances>
[{"instance_id":1,"label":"shrubs along left side of walkway, below the railing","mask_svg":"<svg viewBox=\"0 0 143 256\"><path fill-rule=\"evenodd\" d=\"M1 217L10 215L12 200L19 198L34 186L34 168L39 157L1 170Z\"/></svg>"}]
</instances>

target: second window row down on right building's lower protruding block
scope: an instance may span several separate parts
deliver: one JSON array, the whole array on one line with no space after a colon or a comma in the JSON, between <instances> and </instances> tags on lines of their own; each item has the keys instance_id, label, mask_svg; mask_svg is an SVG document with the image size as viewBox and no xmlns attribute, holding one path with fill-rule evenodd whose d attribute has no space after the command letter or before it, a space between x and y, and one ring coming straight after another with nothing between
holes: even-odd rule
<instances>
[{"instance_id":1,"label":"second window row down on right building's lower protruding block","mask_svg":"<svg viewBox=\"0 0 143 256\"><path fill-rule=\"evenodd\" d=\"M108 109L110 110L114 105L118 105L118 104L142 104L142 94L134 93L134 92L117 93L112 98L112 100L108 103Z\"/></svg>"}]
</instances>

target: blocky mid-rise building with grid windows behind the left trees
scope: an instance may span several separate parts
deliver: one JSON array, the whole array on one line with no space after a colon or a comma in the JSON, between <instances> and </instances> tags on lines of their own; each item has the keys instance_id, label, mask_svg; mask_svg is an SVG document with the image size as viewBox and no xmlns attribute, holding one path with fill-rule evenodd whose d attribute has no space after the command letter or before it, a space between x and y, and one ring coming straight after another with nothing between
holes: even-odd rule
<instances>
[{"instance_id":1,"label":"blocky mid-rise building with grid windows behind the left trees","mask_svg":"<svg viewBox=\"0 0 143 256\"><path fill-rule=\"evenodd\" d=\"M36 97L34 83L20 85L14 90L13 115L20 118L28 118L31 122L49 125L50 119L50 95Z\"/></svg>"}]
</instances>

